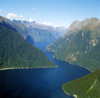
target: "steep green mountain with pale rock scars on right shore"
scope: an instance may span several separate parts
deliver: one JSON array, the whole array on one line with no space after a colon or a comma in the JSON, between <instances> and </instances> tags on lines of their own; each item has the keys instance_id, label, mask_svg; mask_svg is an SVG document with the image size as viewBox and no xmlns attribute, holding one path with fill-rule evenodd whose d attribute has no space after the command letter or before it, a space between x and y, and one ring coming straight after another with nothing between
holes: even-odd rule
<instances>
[{"instance_id":1,"label":"steep green mountain with pale rock scars on right shore","mask_svg":"<svg viewBox=\"0 0 100 98\"><path fill-rule=\"evenodd\" d=\"M78 33L76 33L69 42L54 54L54 58L81 65L94 71L100 68L99 53L100 49L100 21L96 18L90 19L87 24ZM94 57L91 57L91 53ZM87 60L86 60L87 59ZM87 61L87 62L86 62Z\"/></svg>"}]
</instances>

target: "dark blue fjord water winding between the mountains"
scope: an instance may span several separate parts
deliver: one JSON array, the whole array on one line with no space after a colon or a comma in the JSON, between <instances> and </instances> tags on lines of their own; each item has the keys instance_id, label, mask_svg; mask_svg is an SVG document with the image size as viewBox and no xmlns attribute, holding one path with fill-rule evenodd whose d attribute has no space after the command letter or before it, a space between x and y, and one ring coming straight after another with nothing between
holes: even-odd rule
<instances>
[{"instance_id":1,"label":"dark blue fjord water winding between the mountains","mask_svg":"<svg viewBox=\"0 0 100 98\"><path fill-rule=\"evenodd\" d=\"M87 69L53 59L45 52L48 43L36 43L58 68L0 71L0 98L73 98L61 90L63 83L90 73Z\"/></svg>"}]
</instances>

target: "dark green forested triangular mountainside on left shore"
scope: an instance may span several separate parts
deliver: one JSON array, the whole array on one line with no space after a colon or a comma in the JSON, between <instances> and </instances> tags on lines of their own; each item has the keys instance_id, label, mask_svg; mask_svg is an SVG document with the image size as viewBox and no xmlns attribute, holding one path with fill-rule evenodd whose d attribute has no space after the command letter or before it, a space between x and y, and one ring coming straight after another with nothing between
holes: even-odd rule
<instances>
[{"instance_id":1,"label":"dark green forested triangular mountainside on left shore","mask_svg":"<svg viewBox=\"0 0 100 98\"><path fill-rule=\"evenodd\" d=\"M49 61L40 49L10 29L9 25L0 24L0 69L34 67L56 67L56 65Z\"/></svg>"}]
</instances>

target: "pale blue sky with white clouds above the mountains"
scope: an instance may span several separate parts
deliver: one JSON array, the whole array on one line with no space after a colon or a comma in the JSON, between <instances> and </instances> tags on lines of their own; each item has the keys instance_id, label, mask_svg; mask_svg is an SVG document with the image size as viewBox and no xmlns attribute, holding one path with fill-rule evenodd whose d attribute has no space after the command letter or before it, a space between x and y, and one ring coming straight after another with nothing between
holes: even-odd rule
<instances>
[{"instance_id":1,"label":"pale blue sky with white clouds above the mountains","mask_svg":"<svg viewBox=\"0 0 100 98\"><path fill-rule=\"evenodd\" d=\"M0 16L69 27L75 20L100 19L100 0L0 0Z\"/></svg>"}]
</instances>

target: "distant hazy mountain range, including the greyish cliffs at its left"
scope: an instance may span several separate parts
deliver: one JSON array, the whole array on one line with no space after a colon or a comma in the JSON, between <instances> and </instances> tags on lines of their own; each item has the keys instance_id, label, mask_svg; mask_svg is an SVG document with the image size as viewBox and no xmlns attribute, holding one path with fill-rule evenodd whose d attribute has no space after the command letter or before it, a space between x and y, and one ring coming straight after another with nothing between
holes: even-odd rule
<instances>
[{"instance_id":1,"label":"distant hazy mountain range, including the greyish cliffs at its left","mask_svg":"<svg viewBox=\"0 0 100 98\"><path fill-rule=\"evenodd\" d=\"M47 26L35 21L9 20L7 18L6 20L12 23L16 29L20 26L22 29L18 30L18 33L24 38L27 35L30 36L34 42L53 42L67 30L65 27Z\"/></svg>"}]
</instances>

